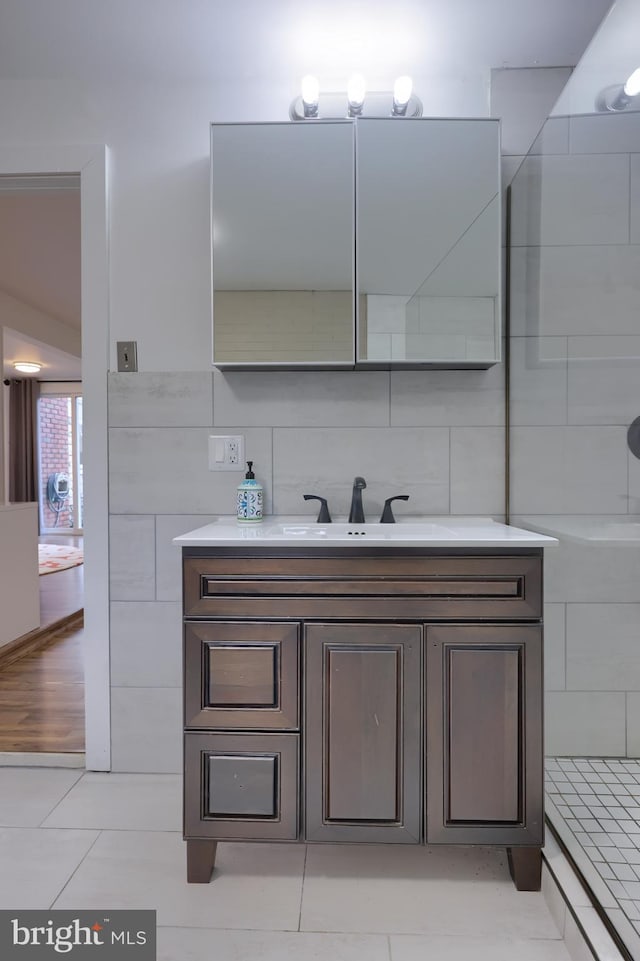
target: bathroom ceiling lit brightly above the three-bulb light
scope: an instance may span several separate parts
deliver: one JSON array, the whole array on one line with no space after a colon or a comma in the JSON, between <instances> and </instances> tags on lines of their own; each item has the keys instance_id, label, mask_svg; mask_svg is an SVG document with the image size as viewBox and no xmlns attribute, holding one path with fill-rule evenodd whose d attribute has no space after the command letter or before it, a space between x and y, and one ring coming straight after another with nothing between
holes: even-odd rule
<instances>
[{"instance_id":1,"label":"bathroom ceiling lit brightly above the three-bulb light","mask_svg":"<svg viewBox=\"0 0 640 961\"><path fill-rule=\"evenodd\" d=\"M2 0L0 75L299 78L572 66L611 0ZM426 66L425 66L426 65ZM373 86L371 89L375 89Z\"/></svg>"}]
</instances>

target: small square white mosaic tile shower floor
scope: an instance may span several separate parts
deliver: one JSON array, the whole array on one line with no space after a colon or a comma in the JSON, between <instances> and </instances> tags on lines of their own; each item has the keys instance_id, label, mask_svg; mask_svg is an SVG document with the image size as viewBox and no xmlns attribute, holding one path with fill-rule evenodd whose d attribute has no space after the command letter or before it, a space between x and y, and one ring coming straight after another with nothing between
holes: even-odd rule
<instances>
[{"instance_id":1,"label":"small square white mosaic tile shower floor","mask_svg":"<svg viewBox=\"0 0 640 961\"><path fill-rule=\"evenodd\" d=\"M547 815L640 961L640 760L547 758Z\"/></svg>"}]
</instances>

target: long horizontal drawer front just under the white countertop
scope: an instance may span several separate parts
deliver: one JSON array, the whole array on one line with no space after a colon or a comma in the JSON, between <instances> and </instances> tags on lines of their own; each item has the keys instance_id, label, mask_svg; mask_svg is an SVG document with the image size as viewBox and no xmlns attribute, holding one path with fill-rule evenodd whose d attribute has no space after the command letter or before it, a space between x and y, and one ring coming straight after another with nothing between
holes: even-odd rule
<instances>
[{"instance_id":1,"label":"long horizontal drawer front just under the white countertop","mask_svg":"<svg viewBox=\"0 0 640 961\"><path fill-rule=\"evenodd\" d=\"M185 616L541 616L538 555L211 556L184 563Z\"/></svg>"}]
</instances>

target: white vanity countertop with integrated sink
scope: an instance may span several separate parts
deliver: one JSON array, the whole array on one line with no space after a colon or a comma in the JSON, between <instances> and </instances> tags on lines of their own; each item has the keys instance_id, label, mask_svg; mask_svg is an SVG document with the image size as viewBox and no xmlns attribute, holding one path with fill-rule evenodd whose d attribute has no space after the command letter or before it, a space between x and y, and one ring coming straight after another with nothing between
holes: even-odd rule
<instances>
[{"instance_id":1,"label":"white vanity countertop with integrated sink","mask_svg":"<svg viewBox=\"0 0 640 961\"><path fill-rule=\"evenodd\" d=\"M555 537L500 524L490 517L403 517L395 524L317 524L309 515L239 523L222 515L174 537L178 547L551 547Z\"/></svg>"}]
</instances>

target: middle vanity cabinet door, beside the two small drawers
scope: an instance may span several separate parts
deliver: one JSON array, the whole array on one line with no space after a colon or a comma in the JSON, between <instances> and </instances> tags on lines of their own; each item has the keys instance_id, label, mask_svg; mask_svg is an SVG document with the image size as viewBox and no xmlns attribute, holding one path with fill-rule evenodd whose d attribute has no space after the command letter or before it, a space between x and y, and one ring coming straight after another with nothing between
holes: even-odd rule
<instances>
[{"instance_id":1,"label":"middle vanity cabinet door, beside the two small drawers","mask_svg":"<svg viewBox=\"0 0 640 961\"><path fill-rule=\"evenodd\" d=\"M307 625L307 840L420 840L421 640L419 625Z\"/></svg>"}]
</instances>

